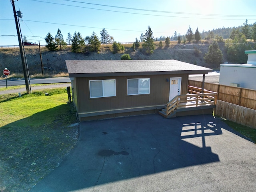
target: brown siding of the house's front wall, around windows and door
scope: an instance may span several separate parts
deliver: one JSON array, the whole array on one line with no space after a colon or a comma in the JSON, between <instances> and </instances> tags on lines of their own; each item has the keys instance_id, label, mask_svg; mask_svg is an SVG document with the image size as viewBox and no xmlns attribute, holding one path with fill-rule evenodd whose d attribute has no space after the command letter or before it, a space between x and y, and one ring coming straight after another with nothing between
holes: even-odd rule
<instances>
[{"instance_id":1,"label":"brown siding of the house's front wall, around windows and door","mask_svg":"<svg viewBox=\"0 0 256 192\"><path fill-rule=\"evenodd\" d=\"M170 77L182 77L181 94L186 94L188 74L76 78L78 113L166 104L169 101ZM128 96L127 79L129 78L150 78L150 94ZM116 79L116 96L90 98L89 80L102 79Z\"/></svg>"}]
</instances>

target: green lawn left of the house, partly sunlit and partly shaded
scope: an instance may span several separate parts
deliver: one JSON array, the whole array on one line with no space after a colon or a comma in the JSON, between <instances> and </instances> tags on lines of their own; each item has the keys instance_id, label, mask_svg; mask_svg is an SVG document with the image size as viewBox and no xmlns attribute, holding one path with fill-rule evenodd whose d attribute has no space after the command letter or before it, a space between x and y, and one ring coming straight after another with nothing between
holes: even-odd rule
<instances>
[{"instance_id":1,"label":"green lawn left of the house, partly sunlit and partly shaded","mask_svg":"<svg viewBox=\"0 0 256 192\"><path fill-rule=\"evenodd\" d=\"M1 191L28 191L75 146L76 112L67 102L65 88L1 95Z\"/></svg>"}]
</instances>

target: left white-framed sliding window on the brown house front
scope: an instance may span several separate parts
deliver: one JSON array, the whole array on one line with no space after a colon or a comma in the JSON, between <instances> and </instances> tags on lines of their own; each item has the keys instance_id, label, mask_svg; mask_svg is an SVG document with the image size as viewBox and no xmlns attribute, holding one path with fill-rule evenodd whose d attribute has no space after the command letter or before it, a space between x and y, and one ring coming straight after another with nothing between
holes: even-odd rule
<instances>
[{"instance_id":1,"label":"left white-framed sliding window on the brown house front","mask_svg":"<svg viewBox=\"0 0 256 192\"><path fill-rule=\"evenodd\" d=\"M116 96L116 80L90 80L90 98Z\"/></svg>"}]
</instances>

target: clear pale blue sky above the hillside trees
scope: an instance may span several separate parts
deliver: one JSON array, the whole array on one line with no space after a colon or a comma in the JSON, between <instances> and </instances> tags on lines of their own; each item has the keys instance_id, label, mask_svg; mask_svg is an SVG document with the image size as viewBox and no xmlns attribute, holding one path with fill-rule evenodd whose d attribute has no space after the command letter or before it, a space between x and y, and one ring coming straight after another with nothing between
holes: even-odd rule
<instances>
[{"instance_id":1,"label":"clear pale blue sky above the hillside trees","mask_svg":"<svg viewBox=\"0 0 256 192\"><path fill-rule=\"evenodd\" d=\"M256 0L19 0L15 7L23 16L22 36L40 44L58 28L64 39L75 31L100 38L106 28L117 42L134 42L148 26L160 37L186 34L189 26L202 32L256 22ZM0 45L18 45L10 0L0 0Z\"/></svg>"}]
</instances>

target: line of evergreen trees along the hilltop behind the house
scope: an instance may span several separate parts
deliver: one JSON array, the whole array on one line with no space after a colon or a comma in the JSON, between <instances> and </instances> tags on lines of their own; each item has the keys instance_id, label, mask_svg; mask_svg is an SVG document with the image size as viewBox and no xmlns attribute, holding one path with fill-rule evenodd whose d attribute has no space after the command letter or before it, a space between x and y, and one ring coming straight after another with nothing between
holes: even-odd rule
<instances>
[{"instance_id":1,"label":"line of evergreen trees along the hilltop behind the house","mask_svg":"<svg viewBox=\"0 0 256 192\"><path fill-rule=\"evenodd\" d=\"M24 37L26 40L26 37ZM140 39L140 40L139 40ZM158 48L169 48L170 41L175 40L178 44L186 43L199 43L200 40L204 39L206 41L212 42L209 46L208 52L204 56L204 61L210 65L218 66L223 60L223 53L219 49L218 44L225 44L226 52L228 55L228 60L230 62L246 62L247 56L244 54L245 50L252 50L250 44L247 43L247 40L256 42L256 22L252 25L248 24L246 20L242 26L234 28L219 28L213 29L211 31L202 33L199 32L198 28L193 33L192 28L189 26L186 34L180 35L176 31L173 36L160 36L154 38L153 31L148 26L148 29L143 34L140 34L140 38L136 38L135 42L132 44L132 51L140 50L144 54L152 54L156 49L156 41L159 41ZM224 40L226 39L226 40ZM102 44L112 44L112 52L116 54L118 52L124 52L125 48L119 42L114 40L113 36L110 36L105 28L100 32L100 38L96 35L95 32L92 32L91 36L82 37L80 32L74 32L73 36L68 33L66 42L64 41L63 35L61 34L60 29L58 29L55 38L50 34L46 35L45 41L47 43L46 47L48 50L56 50L58 47L60 49L64 48L67 44L71 45L72 52L84 53L84 52L99 52L100 46ZM164 42L164 45L163 45ZM202 42L201 42L202 43ZM200 55L200 50L195 51L197 56ZM124 54L122 59L129 59L129 57Z\"/></svg>"}]
</instances>

